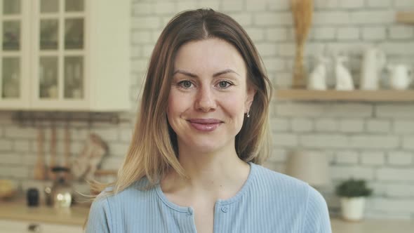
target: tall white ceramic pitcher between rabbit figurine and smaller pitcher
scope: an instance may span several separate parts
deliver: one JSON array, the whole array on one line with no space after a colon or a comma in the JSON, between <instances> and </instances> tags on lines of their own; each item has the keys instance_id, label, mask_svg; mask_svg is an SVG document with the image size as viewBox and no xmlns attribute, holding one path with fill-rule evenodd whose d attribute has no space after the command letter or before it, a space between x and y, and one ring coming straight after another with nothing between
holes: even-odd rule
<instances>
[{"instance_id":1,"label":"tall white ceramic pitcher between rabbit figurine and smaller pitcher","mask_svg":"<svg viewBox=\"0 0 414 233\"><path fill-rule=\"evenodd\" d=\"M380 71L385 62L385 53L379 48L370 47L365 51L361 67L362 90L378 90Z\"/></svg>"}]
</instances>

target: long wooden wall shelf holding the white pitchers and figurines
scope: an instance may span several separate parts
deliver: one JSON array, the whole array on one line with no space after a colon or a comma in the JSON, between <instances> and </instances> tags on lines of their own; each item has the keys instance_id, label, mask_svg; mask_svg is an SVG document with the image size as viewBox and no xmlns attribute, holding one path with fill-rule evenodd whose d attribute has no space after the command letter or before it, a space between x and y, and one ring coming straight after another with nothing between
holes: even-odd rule
<instances>
[{"instance_id":1,"label":"long wooden wall shelf holding the white pitchers and figurines","mask_svg":"<svg viewBox=\"0 0 414 233\"><path fill-rule=\"evenodd\" d=\"M279 89L277 100L319 100L319 101L360 101L360 102L414 102L414 90L410 91L313 91L306 89Z\"/></svg>"}]
</instances>

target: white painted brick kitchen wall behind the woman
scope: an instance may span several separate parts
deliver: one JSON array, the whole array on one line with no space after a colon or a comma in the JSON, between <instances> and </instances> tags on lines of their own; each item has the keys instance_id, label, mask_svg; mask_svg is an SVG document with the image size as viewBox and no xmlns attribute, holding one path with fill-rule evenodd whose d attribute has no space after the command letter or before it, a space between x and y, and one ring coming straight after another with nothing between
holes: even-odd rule
<instances>
[{"instance_id":1,"label":"white painted brick kitchen wall behind the woman","mask_svg":"<svg viewBox=\"0 0 414 233\"><path fill-rule=\"evenodd\" d=\"M328 49L346 51L356 84L361 55L366 46L377 45L389 61L414 65L414 27L395 22L397 10L414 8L413 0L315 0L305 65L312 69L313 56ZM142 76L162 27L179 11L208 7L228 13L248 32L260 51L274 86L291 86L295 34L286 0L134 0L131 1L131 121ZM331 74L328 82L333 85ZM354 177L368 180L374 194L368 199L368 218L414 218L414 104L387 102L293 102L272 101L270 127L273 151L266 166L283 172L292 149L324 152L330 161L326 199L339 206L335 184ZM32 180L36 161L36 129L11 121L11 112L0 112L0 178L13 178L23 189L41 182ZM71 123L72 158L79 155L88 133L98 133L109 144L102 168L116 169L128 150L131 124ZM58 156L62 157L62 128L58 129ZM50 131L45 154L49 159Z\"/></svg>"}]
</instances>

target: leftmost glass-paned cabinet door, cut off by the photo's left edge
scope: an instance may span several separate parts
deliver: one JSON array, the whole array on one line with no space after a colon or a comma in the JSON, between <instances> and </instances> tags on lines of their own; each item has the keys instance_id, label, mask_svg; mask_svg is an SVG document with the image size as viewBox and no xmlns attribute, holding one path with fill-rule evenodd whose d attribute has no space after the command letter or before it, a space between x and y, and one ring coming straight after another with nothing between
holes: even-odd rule
<instances>
[{"instance_id":1,"label":"leftmost glass-paned cabinet door, cut off by the photo's left edge","mask_svg":"<svg viewBox=\"0 0 414 233\"><path fill-rule=\"evenodd\" d=\"M22 2L1 0L0 100L22 100Z\"/></svg>"}]
</instances>

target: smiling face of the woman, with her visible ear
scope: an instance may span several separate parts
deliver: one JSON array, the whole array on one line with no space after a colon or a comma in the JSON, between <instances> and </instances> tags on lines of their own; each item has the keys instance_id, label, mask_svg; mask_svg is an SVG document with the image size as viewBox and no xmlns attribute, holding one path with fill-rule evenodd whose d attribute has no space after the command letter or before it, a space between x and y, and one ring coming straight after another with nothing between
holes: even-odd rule
<instances>
[{"instance_id":1,"label":"smiling face of the woman, with her visible ear","mask_svg":"<svg viewBox=\"0 0 414 233\"><path fill-rule=\"evenodd\" d=\"M189 42L178 50L172 79L167 115L180 151L234 150L255 94L236 48L221 39Z\"/></svg>"}]
</instances>

